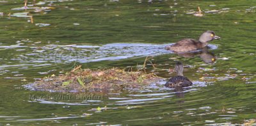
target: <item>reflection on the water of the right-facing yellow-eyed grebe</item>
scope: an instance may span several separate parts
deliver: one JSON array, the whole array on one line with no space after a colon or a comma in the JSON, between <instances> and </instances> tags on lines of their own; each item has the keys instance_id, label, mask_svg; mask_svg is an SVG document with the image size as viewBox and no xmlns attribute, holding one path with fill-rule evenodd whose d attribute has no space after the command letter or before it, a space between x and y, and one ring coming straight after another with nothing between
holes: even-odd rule
<instances>
[{"instance_id":1,"label":"reflection on the water of the right-facing yellow-eyed grebe","mask_svg":"<svg viewBox=\"0 0 256 126\"><path fill-rule=\"evenodd\" d=\"M212 52L209 52L208 47L204 47L199 52L184 52L184 53L177 53L179 56L182 56L184 58L193 58L197 55L204 61L205 63L214 63L216 61L216 58Z\"/></svg>"}]
</instances>

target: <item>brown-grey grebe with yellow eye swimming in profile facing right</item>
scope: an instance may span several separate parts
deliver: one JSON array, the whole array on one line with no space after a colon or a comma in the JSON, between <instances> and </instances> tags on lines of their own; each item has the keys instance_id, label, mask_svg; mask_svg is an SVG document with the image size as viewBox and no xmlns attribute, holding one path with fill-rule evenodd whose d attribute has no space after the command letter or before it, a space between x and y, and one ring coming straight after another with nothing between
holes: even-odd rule
<instances>
[{"instance_id":1,"label":"brown-grey grebe with yellow eye swimming in profile facing right","mask_svg":"<svg viewBox=\"0 0 256 126\"><path fill-rule=\"evenodd\" d=\"M202 49L208 45L208 42L212 40L219 40L220 36L216 36L214 31L205 31L200 37L199 40L186 38L184 40L180 40L179 42L168 45L164 47L166 50L174 51L174 52L189 52L196 51L198 49Z\"/></svg>"}]
</instances>

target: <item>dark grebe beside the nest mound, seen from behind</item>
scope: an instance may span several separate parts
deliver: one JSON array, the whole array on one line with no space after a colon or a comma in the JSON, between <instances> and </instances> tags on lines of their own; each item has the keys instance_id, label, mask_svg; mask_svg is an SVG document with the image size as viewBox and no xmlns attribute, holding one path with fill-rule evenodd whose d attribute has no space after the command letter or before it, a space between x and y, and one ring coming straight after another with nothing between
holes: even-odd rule
<instances>
[{"instance_id":1,"label":"dark grebe beside the nest mound, seen from behind","mask_svg":"<svg viewBox=\"0 0 256 126\"><path fill-rule=\"evenodd\" d=\"M175 63L175 71L177 72L177 75L175 77L172 77L169 79L169 81L164 85L169 88L175 88L175 87L186 87L191 86L193 83L189 81L187 77L184 77L183 72L183 64L181 62Z\"/></svg>"}]
</instances>

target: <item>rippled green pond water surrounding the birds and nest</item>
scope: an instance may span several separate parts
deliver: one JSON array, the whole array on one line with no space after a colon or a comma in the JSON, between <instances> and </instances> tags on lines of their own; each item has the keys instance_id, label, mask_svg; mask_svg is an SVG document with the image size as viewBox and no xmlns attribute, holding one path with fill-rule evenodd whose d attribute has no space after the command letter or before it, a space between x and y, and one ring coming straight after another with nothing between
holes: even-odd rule
<instances>
[{"instance_id":1,"label":"rippled green pond water surrounding the birds and nest","mask_svg":"<svg viewBox=\"0 0 256 126\"><path fill-rule=\"evenodd\" d=\"M0 6L0 125L242 125L255 119L253 0L29 0L26 8L3 0ZM202 17L193 15L198 6ZM164 50L206 30L221 36L207 52L215 63L199 52ZM75 65L140 69L147 56L147 72L166 79L182 61L194 85L82 94L23 86Z\"/></svg>"}]
</instances>

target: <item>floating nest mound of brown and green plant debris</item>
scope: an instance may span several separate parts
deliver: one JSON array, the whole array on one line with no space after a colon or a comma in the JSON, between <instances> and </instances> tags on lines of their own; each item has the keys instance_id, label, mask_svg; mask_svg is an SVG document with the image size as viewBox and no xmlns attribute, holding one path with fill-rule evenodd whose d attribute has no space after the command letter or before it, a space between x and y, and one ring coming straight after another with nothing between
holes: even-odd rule
<instances>
[{"instance_id":1,"label":"floating nest mound of brown and green plant debris","mask_svg":"<svg viewBox=\"0 0 256 126\"><path fill-rule=\"evenodd\" d=\"M40 81L29 84L29 88L58 92L129 90L161 80L152 73L126 72L120 68L90 70L80 67L59 76L44 77Z\"/></svg>"}]
</instances>

